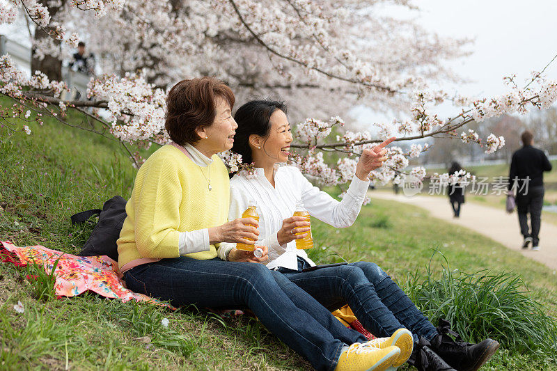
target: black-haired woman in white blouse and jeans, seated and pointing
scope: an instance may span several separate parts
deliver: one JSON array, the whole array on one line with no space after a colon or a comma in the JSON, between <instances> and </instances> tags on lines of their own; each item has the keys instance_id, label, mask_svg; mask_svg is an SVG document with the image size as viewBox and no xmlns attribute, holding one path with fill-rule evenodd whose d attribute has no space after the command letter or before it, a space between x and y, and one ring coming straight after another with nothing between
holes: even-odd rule
<instances>
[{"instance_id":1,"label":"black-haired woman in white blouse and jeans, seated and pointing","mask_svg":"<svg viewBox=\"0 0 557 371\"><path fill-rule=\"evenodd\" d=\"M240 171L230 180L228 220L241 216L250 202L257 204L260 216L257 244L269 248L269 269L281 271L329 310L347 303L375 336L391 336L401 327L409 329L421 349L414 352L413 358L418 370L477 370L492 356L499 343L491 339L478 345L456 343L447 334L448 326L436 329L374 263L355 262L301 271L315 263L306 251L296 248L295 240L306 234L295 233L309 230L303 217L292 216L297 200L304 203L311 216L331 226L352 226L368 190L368 175L382 166L387 153L384 147L395 138L363 151L350 187L339 202L313 187L298 168L278 166L288 161L292 142L283 102L248 102L237 110L235 120L238 127L232 150L242 155L244 164L255 164L255 175ZM233 244L222 247L221 253L234 248Z\"/></svg>"}]
</instances>

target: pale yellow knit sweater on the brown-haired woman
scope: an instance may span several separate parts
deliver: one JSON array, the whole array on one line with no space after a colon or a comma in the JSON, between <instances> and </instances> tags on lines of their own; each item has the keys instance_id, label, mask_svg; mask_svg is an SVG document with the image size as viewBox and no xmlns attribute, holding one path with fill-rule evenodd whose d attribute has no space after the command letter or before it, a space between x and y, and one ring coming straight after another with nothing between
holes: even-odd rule
<instances>
[{"instance_id":1,"label":"pale yellow knit sweater on the brown-haired woman","mask_svg":"<svg viewBox=\"0 0 557 371\"><path fill-rule=\"evenodd\" d=\"M139 168L118 239L120 267L140 258L178 258L180 232L226 223L228 171L217 155L212 159L209 171L178 148L164 145ZM210 245L209 251L187 256L207 260L215 258L217 250Z\"/></svg>"}]
</instances>

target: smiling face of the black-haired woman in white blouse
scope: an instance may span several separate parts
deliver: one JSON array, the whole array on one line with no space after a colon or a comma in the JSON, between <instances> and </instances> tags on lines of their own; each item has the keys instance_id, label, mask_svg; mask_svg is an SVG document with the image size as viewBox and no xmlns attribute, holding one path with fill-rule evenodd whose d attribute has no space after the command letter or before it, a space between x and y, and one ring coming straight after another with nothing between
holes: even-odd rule
<instances>
[{"instance_id":1,"label":"smiling face of the black-haired woman in white blouse","mask_svg":"<svg viewBox=\"0 0 557 371\"><path fill-rule=\"evenodd\" d=\"M280 109L276 109L272 113L269 123L271 128L267 138L261 138L254 134L250 140L253 160L256 166L259 166L258 162L265 162L265 164L286 162L290 155L292 132L285 113ZM264 164L260 165L264 166Z\"/></svg>"}]
</instances>

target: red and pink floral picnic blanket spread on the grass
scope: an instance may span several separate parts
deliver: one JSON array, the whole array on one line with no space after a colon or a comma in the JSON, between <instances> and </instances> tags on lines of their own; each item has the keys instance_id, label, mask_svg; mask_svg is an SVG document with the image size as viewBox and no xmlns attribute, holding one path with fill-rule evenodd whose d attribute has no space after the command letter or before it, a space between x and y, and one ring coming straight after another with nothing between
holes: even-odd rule
<instances>
[{"instance_id":1,"label":"red and pink floral picnic blanket spread on the grass","mask_svg":"<svg viewBox=\"0 0 557 371\"><path fill-rule=\"evenodd\" d=\"M42 264L47 272L52 271L54 263L58 260L54 270L54 290L57 297L74 297L91 290L103 297L124 302L135 299L175 309L147 295L127 290L118 271L118 262L106 255L77 256L40 245L15 246L9 241L0 241L0 260L19 267L33 263Z\"/></svg>"}]
</instances>

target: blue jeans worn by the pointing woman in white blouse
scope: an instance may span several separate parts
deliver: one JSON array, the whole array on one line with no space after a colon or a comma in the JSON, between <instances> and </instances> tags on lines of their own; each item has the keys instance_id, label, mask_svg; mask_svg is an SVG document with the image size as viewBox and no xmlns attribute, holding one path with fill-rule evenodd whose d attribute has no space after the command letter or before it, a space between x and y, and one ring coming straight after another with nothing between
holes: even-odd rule
<instances>
[{"instance_id":1,"label":"blue jeans worn by the pointing woman in white blouse","mask_svg":"<svg viewBox=\"0 0 557 371\"><path fill-rule=\"evenodd\" d=\"M310 267L298 258L298 271L280 268L290 281L304 289L329 310L348 304L363 327L378 338L405 327L414 340L431 340L437 329L378 265L355 262L338 267L301 272Z\"/></svg>"}]
</instances>

